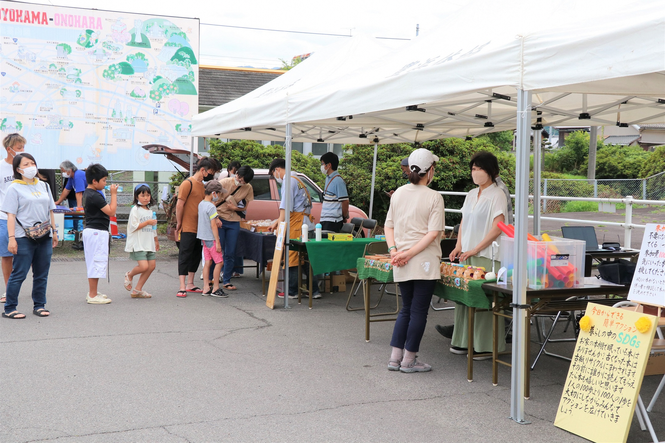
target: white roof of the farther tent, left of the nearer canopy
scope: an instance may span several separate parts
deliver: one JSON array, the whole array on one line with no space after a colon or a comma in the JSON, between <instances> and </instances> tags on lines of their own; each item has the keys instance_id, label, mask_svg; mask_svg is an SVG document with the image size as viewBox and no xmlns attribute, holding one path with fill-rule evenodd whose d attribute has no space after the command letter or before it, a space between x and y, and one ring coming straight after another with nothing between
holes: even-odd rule
<instances>
[{"instance_id":1,"label":"white roof of the farther tent, left of the nearer canopy","mask_svg":"<svg viewBox=\"0 0 665 443\"><path fill-rule=\"evenodd\" d=\"M192 135L215 137L221 133L239 132L231 138L283 141L289 96L321 82L333 82L352 71L362 60L382 57L386 52L388 46L378 39L366 35L344 37L317 50L295 68L249 94L194 116ZM281 132L272 128L281 128Z\"/></svg>"}]
</instances>

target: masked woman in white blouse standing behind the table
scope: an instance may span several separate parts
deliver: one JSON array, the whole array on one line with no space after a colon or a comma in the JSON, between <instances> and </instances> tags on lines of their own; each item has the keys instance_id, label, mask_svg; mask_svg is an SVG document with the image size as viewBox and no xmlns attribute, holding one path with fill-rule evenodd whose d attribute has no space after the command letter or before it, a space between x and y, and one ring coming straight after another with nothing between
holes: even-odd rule
<instances>
[{"instance_id":1,"label":"masked woman in white blouse standing behind the table","mask_svg":"<svg viewBox=\"0 0 665 443\"><path fill-rule=\"evenodd\" d=\"M508 217L508 202L503 189L495 180L499 177L497 157L487 151L480 151L471 157L471 178L477 188L471 189L462 207L462 221L458 232L456 248L450 253L450 260L460 258L460 263L471 266L483 266L489 271L492 267L492 242L499 242L501 229L498 222L505 222ZM501 264L495 260L498 269ZM452 339L450 352L466 354L468 343L468 310L466 306L456 305L455 325L436 325L436 330L444 337ZM503 317L499 317L499 331L503 330ZM473 353L492 351L492 313L477 312L473 329ZM499 351L505 351L505 341L499 342ZM476 360L489 359L474 357Z\"/></svg>"}]
</instances>

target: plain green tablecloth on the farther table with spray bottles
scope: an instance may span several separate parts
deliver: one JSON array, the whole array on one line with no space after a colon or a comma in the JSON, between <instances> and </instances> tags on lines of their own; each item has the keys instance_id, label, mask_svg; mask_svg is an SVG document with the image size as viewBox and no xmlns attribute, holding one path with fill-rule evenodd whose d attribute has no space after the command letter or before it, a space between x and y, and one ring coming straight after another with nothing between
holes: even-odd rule
<instances>
[{"instance_id":1,"label":"plain green tablecloth on the farther table with spray bottles","mask_svg":"<svg viewBox=\"0 0 665 443\"><path fill-rule=\"evenodd\" d=\"M305 248L307 248L312 271L316 275L355 268L358 258L362 257L362 253L365 251L365 246L378 241L382 240L354 238L347 242L333 242L326 238L320 242L309 240L309 242L305 242Z\"/></svg>"}]
</instances>

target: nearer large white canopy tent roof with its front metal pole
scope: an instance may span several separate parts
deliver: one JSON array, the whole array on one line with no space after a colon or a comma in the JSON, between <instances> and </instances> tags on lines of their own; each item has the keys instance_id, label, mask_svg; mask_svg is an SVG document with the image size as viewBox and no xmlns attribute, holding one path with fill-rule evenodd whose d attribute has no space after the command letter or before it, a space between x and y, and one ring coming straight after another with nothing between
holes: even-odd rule
<instances>
[{"instance_id":1,"label":"nearer large white canopy tent roof with its front metal pole","mask_svg":"<svg viewBox=\"0 0 665 443\"><path fill-rule=\"evenodd\" d=\"M550 2L539 4L549 14L541 25L530 3L487 5L471 5L440 33L354 72L289 94L285 124L271 131L287 140L292 131L303 141L329 131L329 142L392 143L517 128L515 227L525 234L532 125L665 122L665 9L654 0ZM245 138L238 120L218 123L218 133ZM193 129L204 135L196 120ZM517 235L515 256L511 417L525 422L525 235Z\"/></svg>"}]
</instances>

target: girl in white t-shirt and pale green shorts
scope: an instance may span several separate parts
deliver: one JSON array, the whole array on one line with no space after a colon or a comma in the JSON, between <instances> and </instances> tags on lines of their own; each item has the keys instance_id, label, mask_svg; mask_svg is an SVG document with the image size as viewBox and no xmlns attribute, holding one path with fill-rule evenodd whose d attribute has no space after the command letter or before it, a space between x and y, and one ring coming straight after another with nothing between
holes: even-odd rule
<instances>
[{"instance_id":1,"label":"girl in white t-shirt and pale green shorts","mask_svg":"<svg viewBox=\"0 0 665 443\"><path fill-rule=\"evenodd\" d=\"M143 285L155 270L156 252L160 250L160 241L157 239L157 220L153 219L150 207L156 205L152 198L150 187L140 183L134 188L134 207L129 213L127 222L126 252L129 258L138 263L134 269L125 274L124 287L131 291L132 298L150 298L150 294L143 290ZM132 278L140 275L138 283L132 289Z\"/></svg>"}]
</instances>

